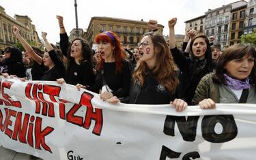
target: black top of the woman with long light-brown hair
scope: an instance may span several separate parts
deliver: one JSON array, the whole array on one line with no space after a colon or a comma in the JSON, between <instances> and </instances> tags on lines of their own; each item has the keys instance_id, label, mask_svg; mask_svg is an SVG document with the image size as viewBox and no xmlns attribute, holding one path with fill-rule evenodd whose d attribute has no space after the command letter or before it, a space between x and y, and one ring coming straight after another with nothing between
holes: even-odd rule
<instances>
[{"instance_id":1,"label":"black top of the woman with long light-brown hair","mask_svg":"<svg viewBox=\"0 0 256 160\"><path fill-rule=\"evenodd\" d=\"M152 74L147 74L142 87L139 82L132 84L129 103L169 104L175 98L177 98L175 92L170 93L165 86L157 82Z\"/></svg>"}]
</instances>

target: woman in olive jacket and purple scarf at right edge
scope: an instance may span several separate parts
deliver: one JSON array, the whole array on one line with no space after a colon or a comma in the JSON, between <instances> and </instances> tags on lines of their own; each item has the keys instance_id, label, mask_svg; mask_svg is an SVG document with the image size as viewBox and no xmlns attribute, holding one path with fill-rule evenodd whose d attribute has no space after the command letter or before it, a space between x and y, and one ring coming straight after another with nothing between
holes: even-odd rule
<instances>
[{"instance_id":1,"label":"woman in olive jacket and purple scarf at right edge","mask_svg":"<svg viewBox=\"0 0 256 160\"><path fill-rule=\"evenodd\" d=\"M227 48L218 61L216 71L204 76L193 104L203 109L215 103L256 103L255 48L236 44Z\"/></svg>"}]
</instances>

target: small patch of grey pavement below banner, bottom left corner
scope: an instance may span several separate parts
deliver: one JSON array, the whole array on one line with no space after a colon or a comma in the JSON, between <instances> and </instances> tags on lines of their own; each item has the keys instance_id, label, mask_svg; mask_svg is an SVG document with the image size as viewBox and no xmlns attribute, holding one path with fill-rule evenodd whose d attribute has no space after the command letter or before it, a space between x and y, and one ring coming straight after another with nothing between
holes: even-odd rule
<instances>
[{"instance_id":1,"label":"small patch of grey pavement below banner, bottom left corner","mask_svg":"<svg viewBox=\"0 0 256 160\"><path fill-rule=\"evenodd\" d=\"M27 155L25 153L17 153L14 150L3 148L3 146L0 145L0 160L32 160L29 157L30 155ZM42 160L42 159L37 159L37 160Z\"/></svg>"}]
</instances>

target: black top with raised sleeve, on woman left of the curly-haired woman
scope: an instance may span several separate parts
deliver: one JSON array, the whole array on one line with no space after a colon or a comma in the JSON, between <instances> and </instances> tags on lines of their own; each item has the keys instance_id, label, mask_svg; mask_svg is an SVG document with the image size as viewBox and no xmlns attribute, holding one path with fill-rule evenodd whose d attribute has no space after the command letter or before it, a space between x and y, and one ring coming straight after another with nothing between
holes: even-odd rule
<instances>
[{"instance_id":1,"label":"black top with raised sleeve, on woman left of the curly-haired woman","mask_svg":"<svg viewBox=\"0 0 256 160\"><path fill-rule=\"evenodd\" d=\"M64 78L66 69L63 63L58 59L55 50L51 50L48 53L55 66L52 69L45 71L44 76L42 76L41 80L55 81L58 78Z\"/></svg>"}]
</instances>

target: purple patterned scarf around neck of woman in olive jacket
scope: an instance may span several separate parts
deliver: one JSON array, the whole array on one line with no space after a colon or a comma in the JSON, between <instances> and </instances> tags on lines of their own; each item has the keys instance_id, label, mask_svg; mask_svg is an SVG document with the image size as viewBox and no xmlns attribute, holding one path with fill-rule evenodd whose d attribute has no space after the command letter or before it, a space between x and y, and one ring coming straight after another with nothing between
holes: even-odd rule
<instances>
[{"instance_id":1,"label":"purple patterned scarf around neck of woman in olive jacket","mask_svg":"<svg viewBox=\"0 0 256 160\"><path fill-rule=\"evenodd\" d=\"M245 81L237 80L234 78L231 78L227 76L227 74L224 74L224 78L227 82L227 86L229 86L231 89L234 90L241 90L241 89L249 89L250 88L250 82L249 78L247 77Z\"/></svg>"}]
</instances>

